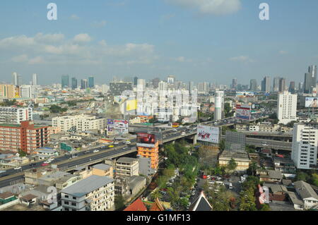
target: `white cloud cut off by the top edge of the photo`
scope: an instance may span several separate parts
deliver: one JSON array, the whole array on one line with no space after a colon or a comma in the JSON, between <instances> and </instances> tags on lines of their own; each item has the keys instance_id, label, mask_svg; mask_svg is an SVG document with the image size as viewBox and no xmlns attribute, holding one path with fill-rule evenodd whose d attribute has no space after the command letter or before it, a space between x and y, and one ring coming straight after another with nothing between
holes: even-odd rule
<instances>
[{"instance_id":1,"label":"white cloud cut off by the top edge of the photo","mask_svg":"<svg viewBox=\"0 0 318 225\"><path fill-rule=\"evenodd\" d=\"M170 4L185 8L194 8L199 13L225 15L240 10L240 0L165 0Z\"/></svg>"}]
</instances>

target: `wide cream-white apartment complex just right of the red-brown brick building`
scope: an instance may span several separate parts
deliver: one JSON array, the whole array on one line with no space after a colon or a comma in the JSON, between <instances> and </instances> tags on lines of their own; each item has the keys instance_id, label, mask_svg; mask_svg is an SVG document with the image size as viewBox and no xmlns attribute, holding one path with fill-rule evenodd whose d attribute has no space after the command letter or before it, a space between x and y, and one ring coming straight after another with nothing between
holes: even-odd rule
<instances>
[{"instance_id":1,"label":"wide cream-white apartment complex just right of the red-brown brick building","mask_svg":"<svg viewBox=\"0 0 318 225\"><path fill-rule=\"evenodd\" d=\"M61 131L101 130L106 127L106 119L84 114L76 116L57 116L52 118L52 126L61 128Z\"/></svg>"}]
</instances>

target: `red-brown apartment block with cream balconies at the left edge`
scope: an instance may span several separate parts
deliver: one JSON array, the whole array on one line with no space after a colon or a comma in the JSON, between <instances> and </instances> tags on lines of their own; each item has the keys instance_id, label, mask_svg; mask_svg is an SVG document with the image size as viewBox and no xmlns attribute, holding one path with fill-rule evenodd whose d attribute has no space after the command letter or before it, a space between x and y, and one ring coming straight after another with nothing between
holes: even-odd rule
<instances>
[{"instance_id":1,"label":"red-brown apartment block with cream balconies at the left edge","mask_svg":"<svg viewBox=\"0 0 318 225\"><path fill-rule=\"evenodd\" d=\"M0 124L0 151L22 150L31 153L49 142L49 127L35 126L33 121L22 121L20 124Z\"/></svg>"}]
</instances>

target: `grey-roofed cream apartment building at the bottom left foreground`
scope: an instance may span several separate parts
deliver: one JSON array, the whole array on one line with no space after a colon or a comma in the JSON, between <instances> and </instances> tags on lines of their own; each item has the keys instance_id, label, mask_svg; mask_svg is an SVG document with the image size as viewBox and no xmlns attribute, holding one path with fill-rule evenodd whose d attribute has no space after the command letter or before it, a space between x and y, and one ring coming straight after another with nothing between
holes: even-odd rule
<instances>
[{"instance_id":1,"label":"grey-roofed cream apartment building at the bottom left foreground","mask_svg":"<svg viewBox=\"0 0 318 225\"><path fill-rule=\"evenodd\" d=\"M61 190L62 211L114 210L114 180L91 175Z\"/></svg>"}]
</instances>

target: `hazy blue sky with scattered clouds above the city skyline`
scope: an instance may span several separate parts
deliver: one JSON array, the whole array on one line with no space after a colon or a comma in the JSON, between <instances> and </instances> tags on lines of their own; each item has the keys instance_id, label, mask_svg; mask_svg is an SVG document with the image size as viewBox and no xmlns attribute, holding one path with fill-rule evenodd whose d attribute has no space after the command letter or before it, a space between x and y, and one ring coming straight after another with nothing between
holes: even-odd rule
<instances>
[{"instance_id":1,"label":"hazy blue sky with scattered clouds above the city skyline","mask_svg":"<svg viewBox=\"0 0 318 225\"><path fill-rule=\"evenodd\" d=\"M47 4L57 4L57 20ZM260 20L259 4L269 4ZM3 0L0 83L61 75L229 85L265 75L303 82L318 64L317 0ZM273 82L271 82L272 84Z\"/></svg>"}]
</instances>

